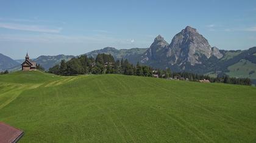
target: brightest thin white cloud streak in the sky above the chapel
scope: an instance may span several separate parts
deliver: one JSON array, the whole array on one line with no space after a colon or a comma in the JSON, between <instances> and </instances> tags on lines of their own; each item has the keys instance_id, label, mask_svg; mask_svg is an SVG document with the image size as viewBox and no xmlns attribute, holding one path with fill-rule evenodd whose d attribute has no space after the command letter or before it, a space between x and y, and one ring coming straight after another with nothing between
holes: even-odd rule
<instances>
[{"instance_id":1,"label":"brightest thin white cloud streak in the sky above the chapel","mask_svg":"<svg viewBox=\"0 0 256 143\"><path fill-rule=\"evenodd\" d=\"M0 22L0 28L7 28L12 30L23 30L30 32L44 32L44 33L60 33L62 28L47 28L40 25L24 25Z\"/></svg>"}]
</instances>

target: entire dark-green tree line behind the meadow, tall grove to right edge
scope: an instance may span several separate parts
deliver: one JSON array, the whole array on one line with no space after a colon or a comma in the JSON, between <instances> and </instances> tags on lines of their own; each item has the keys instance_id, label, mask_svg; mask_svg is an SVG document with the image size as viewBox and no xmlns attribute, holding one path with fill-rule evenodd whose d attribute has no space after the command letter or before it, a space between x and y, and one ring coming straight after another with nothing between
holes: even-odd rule
<instances>
[{"instance_id":1,"label":"entire dark-green tree line behind the meadow, tall grove to right edge","mask_svg":"<svg viewBox=\"0 0 256 143\"><path fill-rule=\"evenodd\" d=\"M243 84L251 85L251 80L249 78L229 78L227 75L218 76L217 78L212 78L210 76L198 75L194 73L172 73L169 68L166 70L154 69L146 65L130 64L127 59L116 60L112 55L99 54L96 58L87 57L86 55L79 56L78 58L73 58L69 61L62 60L60 65L55 65L49 68L49 73L54 73L55 75L85 75L85 74L123 74L123 75L135 75L135 76L155 76L158 75L159 78L173 78L174 76L179 76L183 79L188 79L189 81L199 81L202 79L208 79L210 82L224 82L229 84Z\"/></svg>"}]
</instances>

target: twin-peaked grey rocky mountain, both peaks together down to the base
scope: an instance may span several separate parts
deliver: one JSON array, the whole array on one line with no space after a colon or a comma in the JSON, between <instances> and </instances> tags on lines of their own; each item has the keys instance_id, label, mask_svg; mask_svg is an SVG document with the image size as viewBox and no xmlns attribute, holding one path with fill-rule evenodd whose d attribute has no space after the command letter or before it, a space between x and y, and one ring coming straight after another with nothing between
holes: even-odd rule
<instances>
[{"instance_id":1,"label":"twin-peaked grey rocky mountain, both peaks together down to the base","mask_svg":"<svg viewBox=\"0 0 256 143\"><path fill-rule=\"evenodd\" d=\"M171 44L158 35L151 47L141 56L141 62L152 67L171 67L182 71L193 66L203 68L207 66L205 64L209 64L207 61L214 61L222 56L219 49L211 47L207 39L195 28L187 26L174 36Z\"/></svg>"}]
</instances>

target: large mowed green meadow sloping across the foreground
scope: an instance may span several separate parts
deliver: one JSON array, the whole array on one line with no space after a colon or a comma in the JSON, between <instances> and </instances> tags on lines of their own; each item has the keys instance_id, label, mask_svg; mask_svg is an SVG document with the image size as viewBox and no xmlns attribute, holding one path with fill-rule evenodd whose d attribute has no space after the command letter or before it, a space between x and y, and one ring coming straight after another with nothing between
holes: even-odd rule
<instances>
[{"instance_id":1,"label":"large mowed green meadow sloping across the foreground","mask_svg":"<svg viewBox=\"0 0 256 143\"><path fill-rule=\"evenodd\" d=\"M0 75L20 142L256 142L256 88L125 75Z\"/></svg>"}]
</instances>

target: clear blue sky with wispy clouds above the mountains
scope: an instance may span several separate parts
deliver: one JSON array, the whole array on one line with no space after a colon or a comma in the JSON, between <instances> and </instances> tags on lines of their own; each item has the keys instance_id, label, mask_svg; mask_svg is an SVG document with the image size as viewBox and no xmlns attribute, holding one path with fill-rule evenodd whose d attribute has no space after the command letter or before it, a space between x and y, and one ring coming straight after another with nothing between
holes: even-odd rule
<instances>
[{"instance_id":1,"label":"clear blue sky with wispy clouds above the mountains","mask_svg":"<svg viewBox=\"0 0 256 143\"><path fill-rule=\"evenodd\" d=\"M171 42L187 25L225 50L256 46L256 1L0 1L0 53L80 55Z\"/></svg>"}]
</instances>

